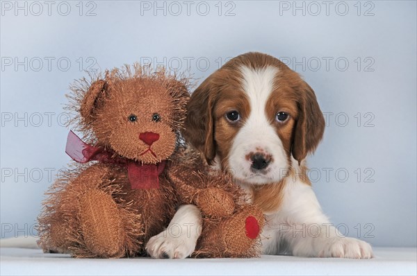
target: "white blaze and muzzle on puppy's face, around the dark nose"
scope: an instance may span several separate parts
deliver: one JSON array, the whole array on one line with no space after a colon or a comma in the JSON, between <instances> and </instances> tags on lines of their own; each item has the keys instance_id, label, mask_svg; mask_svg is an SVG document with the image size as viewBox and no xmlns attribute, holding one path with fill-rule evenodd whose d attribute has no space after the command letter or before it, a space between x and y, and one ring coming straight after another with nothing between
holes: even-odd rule
<instances>
[{"instance_id":1,"label":"white blaze and muzzle on puppy's face, around the dark nose","mask_svg":"<svg viewBox=\"0 0 417 276\"><path fill-rule=\"evenodd\" d=\"M241 67L242 89L250 103L249 117L243 118L244 125L236 135L229 152L229 168L234 176L242 181L253 184L265 184L281 179L281 169L288 167L286 153L281 139L271 125L265 112L268 98L274 88L274 80L278 69L264 67L251 69ZM265 173L256 174L251 170L252 162L246 156L262 149L272 155L273 162L265 169Z\"/></svg>"}]
</instances>

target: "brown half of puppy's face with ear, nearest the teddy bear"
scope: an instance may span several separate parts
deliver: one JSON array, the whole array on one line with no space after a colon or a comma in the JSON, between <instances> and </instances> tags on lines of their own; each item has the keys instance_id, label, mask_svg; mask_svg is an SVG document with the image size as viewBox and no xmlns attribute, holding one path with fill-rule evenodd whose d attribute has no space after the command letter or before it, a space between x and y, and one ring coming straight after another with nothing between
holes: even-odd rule
<instances>
[{"instance_id":1,"label":"brown half of puppy's face with ear, nearest the teddy bear","mask_svg":"<svg viewBox=\"0 0 417 276\"><path fill-rule=\"evenodd\" d=\"M213 162L216 154L224 164L231 141L238 132L238 126L231 127L224 114L236 107L240 114L250 112L240 81L238 69L222 67L195 89L187 105L185 136L204 155L208 164Z\"/></svg>"}]
</instances>

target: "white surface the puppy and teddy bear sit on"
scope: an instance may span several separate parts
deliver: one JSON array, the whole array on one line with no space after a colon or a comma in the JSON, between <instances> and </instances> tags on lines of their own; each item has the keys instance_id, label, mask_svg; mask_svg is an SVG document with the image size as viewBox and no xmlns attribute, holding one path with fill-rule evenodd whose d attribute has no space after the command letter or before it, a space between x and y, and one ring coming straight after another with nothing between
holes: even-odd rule
<instances>
[{"instance_id":1,"label":"white surface the puppy and teddy bear sit on","mask_svg":"<svg viewBox=\"0 0 417 276\"><path fill-rule=\"evenodd\" d=\"M416 275L416 248L375 248L375 258L72 259L1 248L1 275Z\"/></svg>"}]
</instances>

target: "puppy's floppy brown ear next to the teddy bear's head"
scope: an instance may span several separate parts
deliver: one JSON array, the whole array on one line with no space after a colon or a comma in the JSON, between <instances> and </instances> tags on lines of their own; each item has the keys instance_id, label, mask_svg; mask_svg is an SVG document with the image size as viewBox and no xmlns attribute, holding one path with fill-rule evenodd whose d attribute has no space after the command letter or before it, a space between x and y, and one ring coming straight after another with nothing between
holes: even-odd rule
<instances>
[{"instance_id":1,"label":"puppy's floppy brown ear next to the teddy bear's head","mask_svg":"<svg viewBox=\"0 0 417 276\"><path fill-rule=\"evenodd\" d=\"M215 157L213 106L215 102L215 87L206 78L191 94L187 105L186 139L190 141L211 164Z\"/></svg>"}]
</instances>

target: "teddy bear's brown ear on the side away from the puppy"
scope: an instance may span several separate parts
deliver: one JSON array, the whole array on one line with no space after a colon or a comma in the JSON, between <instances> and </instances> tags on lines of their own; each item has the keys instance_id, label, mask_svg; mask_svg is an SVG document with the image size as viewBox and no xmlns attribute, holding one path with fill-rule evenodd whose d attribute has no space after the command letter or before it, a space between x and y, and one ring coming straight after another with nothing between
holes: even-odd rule
<instances>
[{"instance_id":1,"label":"teddy bear's brown ear on the side away from the puppy","mask_svg":"<svg viewBox=\"0 0 417 276\"><path fill-rule=\"evenodd\" d=\"M106 93L108 85L105 80L96 80L90 85L81 102L80 113L85 123L92 123L95 118L95 112L101 105L101 98Z\"/></svg>"}]
</instances>

